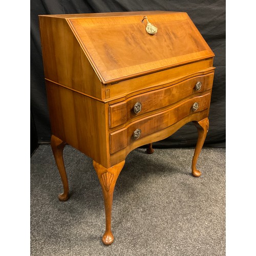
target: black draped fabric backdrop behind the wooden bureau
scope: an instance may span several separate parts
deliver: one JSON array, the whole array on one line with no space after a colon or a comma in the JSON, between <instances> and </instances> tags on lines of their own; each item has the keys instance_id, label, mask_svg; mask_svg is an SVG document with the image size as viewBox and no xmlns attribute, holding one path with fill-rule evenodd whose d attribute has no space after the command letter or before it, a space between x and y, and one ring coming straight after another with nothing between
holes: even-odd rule
<instances>
[{"instance_id":1,"label":"black draped fabric backdrop behind the wooden bureau","mask_svg":"<svg viewBox=\"0 0 256 256\"><path fill-rule=\"evenodd\" d=\"M189 17L215 53L215 78L209 113L209 132L205 144L225 147L225 1L194 0L32 0L31 1L31 112L38 142L49 142L51 128L47 106L44 68L39 35L39 14L69 14L124 11L182 11ZM197 130L193 123L184 125L155 147L195 146Z\"/></svg>"}]
</instances>

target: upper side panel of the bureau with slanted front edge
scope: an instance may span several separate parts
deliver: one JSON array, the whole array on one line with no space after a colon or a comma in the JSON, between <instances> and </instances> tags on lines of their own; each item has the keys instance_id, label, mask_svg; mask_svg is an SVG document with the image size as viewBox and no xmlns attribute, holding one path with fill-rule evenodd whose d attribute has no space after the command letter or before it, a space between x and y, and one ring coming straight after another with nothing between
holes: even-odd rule
<instances>
[{"instance_id":1,"label":"upper side panel of the bureau with slanted front edge","mask_svg":"<svg viewBox=\"0 0 256 256\"><path fill-rule=\"evenodd\" d=\"M65 18L39 16L45 78L102 99L104 86Z\"/></svg>"}]
</instances>

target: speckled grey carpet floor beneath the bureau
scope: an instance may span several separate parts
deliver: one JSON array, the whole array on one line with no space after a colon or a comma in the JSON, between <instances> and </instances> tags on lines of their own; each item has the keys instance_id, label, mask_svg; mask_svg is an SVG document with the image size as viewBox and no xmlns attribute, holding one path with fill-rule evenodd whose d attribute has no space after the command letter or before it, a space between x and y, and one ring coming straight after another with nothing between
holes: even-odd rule
<instances>
[{"instance_id":1,"label":"speckled grey carpet floor beneath the bureau","mask_svg":"<svg viewBox=\"0 0 256 256\"><path fill-rule=\"evenodd\" d=\"M31 158L31 255L225 255L225 148L203 148L194 178L194 149L138 148L117 180L111 246L101 242L105 217L92 160L66 146L70 199L49 144Z\"/></svg>"}]
</instances>

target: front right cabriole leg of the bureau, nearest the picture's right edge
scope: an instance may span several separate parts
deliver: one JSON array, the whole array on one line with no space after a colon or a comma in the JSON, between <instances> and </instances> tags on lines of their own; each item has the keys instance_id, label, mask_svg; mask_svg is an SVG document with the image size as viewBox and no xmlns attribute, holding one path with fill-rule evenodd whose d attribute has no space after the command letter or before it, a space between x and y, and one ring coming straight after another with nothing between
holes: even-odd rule
<instances>
[{"instance_id":1,"label":"front right cabriole leg of the bureau, nearest the picture's right edge","mask_svg":"<svg viewBox=\"0 0 256 256\"><path fill-rule=\"evenodd\" d=\"M200 172L200 170L198 170L196 168L197 159L202 150L202 147L203 147L203 144L204 144L204 141L206 138L206 134L209 129L209 120L206 117L205 119L203 119L201 121L194 121L194 124L197 127L198 140L197 140L197 145L196 145L195 153L194 153L193 160L192 160L192 175L195 177L199 177L201 175L201 172Z\"/></svg>"}]
</instances>

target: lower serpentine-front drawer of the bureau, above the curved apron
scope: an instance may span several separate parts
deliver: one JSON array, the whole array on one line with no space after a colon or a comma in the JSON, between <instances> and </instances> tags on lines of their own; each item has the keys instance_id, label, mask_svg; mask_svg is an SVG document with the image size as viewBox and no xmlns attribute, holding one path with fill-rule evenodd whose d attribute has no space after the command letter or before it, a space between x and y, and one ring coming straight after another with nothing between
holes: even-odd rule
<instances>
[{"instance_id":1,"label":"lower serpentine-front drawer of the bureau, above the curved apron","mask_svg":"<svg viewBox=\"0 0 256 256\"><path fill-rule=\"evenodd\" d=\"M188 115L209 108L211 93L187 99L173 108L147 116L127 125L123 129L110 134L110 153L125 148L127 145L147 135L161 131Z\"/></svg>"}]
</instances>

